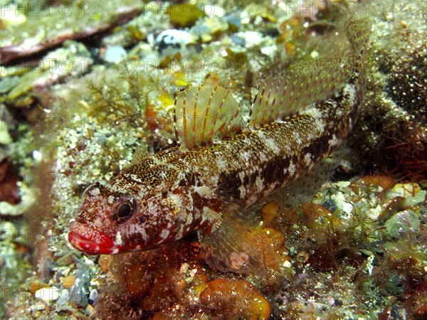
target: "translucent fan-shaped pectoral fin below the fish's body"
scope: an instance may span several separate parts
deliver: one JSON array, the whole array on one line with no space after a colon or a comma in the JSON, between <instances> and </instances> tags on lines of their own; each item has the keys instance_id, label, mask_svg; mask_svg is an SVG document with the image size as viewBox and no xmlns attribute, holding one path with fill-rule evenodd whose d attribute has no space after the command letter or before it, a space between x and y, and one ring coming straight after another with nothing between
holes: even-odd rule
<instances>
[{"instance_id":1,"label":"translucent fan-shaped pectoral fin below the fish's body","mask_svg":"<svg viewBox=\"0 0 427 320\"><path fill-rule=\"evenodd\" d=\"M216 221L210 230L201 230L201 255L218 270L237 273L280 272L284 236L260 228L248 209L223 201L221 212L210 210Z\"/></svg>"}]
</instances>

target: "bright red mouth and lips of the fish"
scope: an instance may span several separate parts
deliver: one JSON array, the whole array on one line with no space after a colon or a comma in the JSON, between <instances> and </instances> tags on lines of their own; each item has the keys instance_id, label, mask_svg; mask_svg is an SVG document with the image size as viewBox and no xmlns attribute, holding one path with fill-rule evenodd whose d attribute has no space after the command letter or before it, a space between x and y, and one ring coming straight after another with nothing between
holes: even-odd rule
<instances>
[{"instance_id":1,"label":"bright red mouth and lips of the fish","mask_svg":"<svg viewBox=\"0 0 427 320\"><path fill-rule=\"evenodd\" d=\"M71 223L68 242L75 249L88 255L112 255L120 252L120 248L112 242L107 234L90 229L78 222Z\"/></svg>"}]
</instances>

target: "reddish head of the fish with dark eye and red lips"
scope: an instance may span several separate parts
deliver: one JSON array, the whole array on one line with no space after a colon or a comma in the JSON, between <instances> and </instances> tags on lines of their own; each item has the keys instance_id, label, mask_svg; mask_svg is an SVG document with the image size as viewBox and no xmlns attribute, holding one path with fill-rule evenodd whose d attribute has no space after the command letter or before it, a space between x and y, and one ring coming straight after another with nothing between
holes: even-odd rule
<instances>
[{"instance_id":1,"label":"reddish head of the fish with dark eye and red lips","mask_svg":"<svg viewBox=\"0 0 427 320\"><path fill-rule=\"evenodd\" d=\"M176 240L179 210L164 193L147 198L93 183L70 224L68 241L90 255L154 249Z\"/></svg>"}]
</instances>

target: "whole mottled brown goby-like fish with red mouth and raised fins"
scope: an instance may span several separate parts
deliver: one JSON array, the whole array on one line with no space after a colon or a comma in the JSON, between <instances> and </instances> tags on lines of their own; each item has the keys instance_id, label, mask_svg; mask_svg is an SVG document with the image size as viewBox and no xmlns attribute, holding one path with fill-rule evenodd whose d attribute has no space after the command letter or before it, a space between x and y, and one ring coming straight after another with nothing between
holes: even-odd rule
<instances>
[{"instance_id":1,"label":"whole mottled brown goby-like fish with red mouth and raised fins","mask_svg":"<svg viewBox=\"0 0 427 320\"><path fill-rule=\"evenodd\" d=\"M277 259L250 207L310 171L354 127L369 30L369 23L350 20L344 55L265 79L246 122L231 90L200 85L177 92L178 146L90 185L70 223L70 245L114 255L197 233L201 255L219 270L278 270L266 264Z\"/></svg>"}]
</instances>

